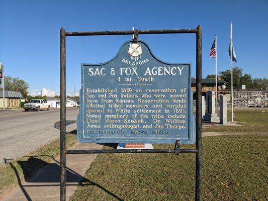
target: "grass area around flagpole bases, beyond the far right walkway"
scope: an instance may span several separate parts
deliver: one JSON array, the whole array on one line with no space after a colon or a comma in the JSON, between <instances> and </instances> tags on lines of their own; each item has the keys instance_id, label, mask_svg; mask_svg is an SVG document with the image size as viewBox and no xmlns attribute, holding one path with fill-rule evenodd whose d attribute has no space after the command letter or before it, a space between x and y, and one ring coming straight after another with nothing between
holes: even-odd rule
<instances>
[{"instance_id":1,"label":"grass area around flagpole bases, beyond the far right walkway","mask_svg":"<svg viewBox=\"0 0 268 201\"><path fill-rule=\"evenodd\" d=\"M268 131L268 109L234 109L234 121L243 126L210 126L202 128L203 132L220 131ZM231 121L231 111L227 111L227 120Z\"/></svg>"}]
</instances>

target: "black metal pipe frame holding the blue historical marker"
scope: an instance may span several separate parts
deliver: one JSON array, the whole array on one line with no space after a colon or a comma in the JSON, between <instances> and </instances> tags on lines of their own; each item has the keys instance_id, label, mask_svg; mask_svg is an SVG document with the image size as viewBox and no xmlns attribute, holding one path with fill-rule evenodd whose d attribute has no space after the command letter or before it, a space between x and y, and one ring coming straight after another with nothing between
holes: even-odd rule
<instances>
[{"instance_id":1,"label":"black metal pipe frame holding the blue historical marker","mask_svg":"<svg viewBox=\"0 0 268 201\"><path fill-rule=\"evenodd\" d=\"M174 149L123 149L123 150L66 150L66 36L107 36L138 34L196 34L196 148L180 149L176 141ZM196 153L196 189L195 200L201 200L201 129L202 129L202 28L174 30L134 30L134 31L100 31L100 32L66 32L60 29L60 200L66 199L66 154L94 153Z\"/></svg>"}]
</instances>

